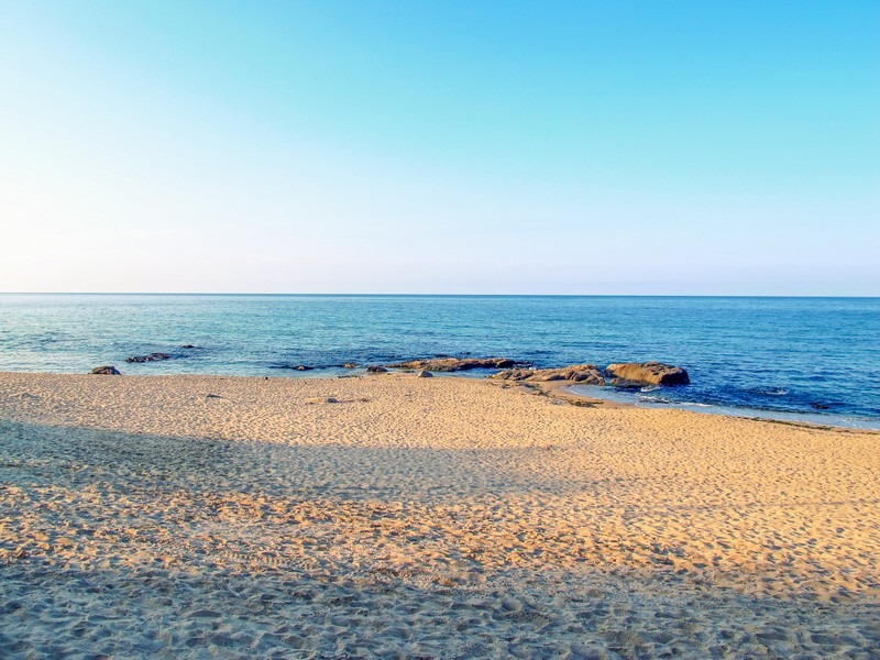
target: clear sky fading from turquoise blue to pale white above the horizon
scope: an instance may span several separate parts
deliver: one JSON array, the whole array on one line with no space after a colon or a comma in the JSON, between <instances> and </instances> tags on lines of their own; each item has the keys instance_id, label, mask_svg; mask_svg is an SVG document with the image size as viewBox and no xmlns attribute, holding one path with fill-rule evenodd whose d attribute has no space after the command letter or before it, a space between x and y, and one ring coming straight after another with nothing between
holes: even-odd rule
<instances>
[{"instance_id":1,"label":"clear sky fading from turquoise blue to pale white above the horizon","mask_svg":"<svg viewBox=\"0 0 880 660\"><path fill-rule=\"evenodd\" d=\"M0 0L0 290L880 295L880 2Z\"/></svg>"}]
</instances>

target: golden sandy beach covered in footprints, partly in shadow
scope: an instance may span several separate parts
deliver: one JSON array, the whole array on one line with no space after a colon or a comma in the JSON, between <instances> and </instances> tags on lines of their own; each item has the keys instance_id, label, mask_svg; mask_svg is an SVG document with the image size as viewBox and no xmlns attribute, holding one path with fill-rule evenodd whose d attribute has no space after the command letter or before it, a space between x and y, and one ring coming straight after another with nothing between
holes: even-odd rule
<instances>
[{"instance_id":1,"label":"golden sandy beach covered in footprints, partly in shadow","mask_svg":"<svg viewBox=\"0 0 880 660\"><path fill-rule=\"evenodd\" d=\"M880 435L0 374L0 657L878 658Z\"/></svg>"}]
</instances>

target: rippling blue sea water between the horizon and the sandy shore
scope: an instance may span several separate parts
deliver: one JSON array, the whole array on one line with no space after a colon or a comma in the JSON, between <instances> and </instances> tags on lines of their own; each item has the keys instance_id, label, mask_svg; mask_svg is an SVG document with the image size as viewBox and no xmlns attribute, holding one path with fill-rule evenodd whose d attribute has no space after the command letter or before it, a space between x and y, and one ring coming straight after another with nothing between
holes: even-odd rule
<instances>
[{"instance_id":1,"label":"rippling blue sea water between the horizon and the sandy shore","mask_svg":"<svg viewBox=\"0 0 880 660\"><path fill-rule=\"evenodd\" d=\"M125 363L152 352L174 358ZM880 298L0 295L0 371L328 376L435 355L659 360L692 384L606 394L880 428Z\"/></svg>"}]
</instances>

